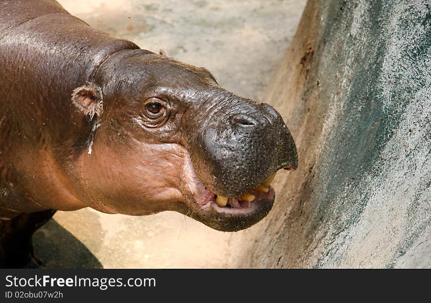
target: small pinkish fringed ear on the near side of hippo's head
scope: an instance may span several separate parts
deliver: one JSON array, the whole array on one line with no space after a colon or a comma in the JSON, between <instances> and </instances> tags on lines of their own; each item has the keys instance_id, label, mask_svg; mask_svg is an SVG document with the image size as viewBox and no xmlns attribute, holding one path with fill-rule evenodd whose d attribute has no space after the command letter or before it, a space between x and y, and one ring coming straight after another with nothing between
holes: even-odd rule
<instances>
[{"instance_id":1,"label":"small pinkish fringed ear on the near side of hippo's head","mask_svg":"<svg viewBox=\"0 0 431 303\"><path fill-rule=\"evenodd\" d=\"M94 83L87 83L78 87L72 93L73 104L90 119L96 114L98 117L103 113L102 90Z\"/></svg>"}]
</instances>

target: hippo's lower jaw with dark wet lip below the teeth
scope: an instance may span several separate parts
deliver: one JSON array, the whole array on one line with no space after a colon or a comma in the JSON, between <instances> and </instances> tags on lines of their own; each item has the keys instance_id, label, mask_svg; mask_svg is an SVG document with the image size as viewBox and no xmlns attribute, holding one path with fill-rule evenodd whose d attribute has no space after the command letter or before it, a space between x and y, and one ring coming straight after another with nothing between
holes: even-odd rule
<instances>
[{"instance_id":1,"label":"hippo's lower jaw with dark wet lip below the teeth","mask_svg":"<svg viewBox=\"0 0 431 303\"><path fill-rule=\"evenodd\" d=\"M274 189L270 187L268 193L258 196L245 207L219 207L215 201L210 201L203 206L192 203L190 209L180 212L215 230L237 232L261 221L271 210L274 198Z\"/></svg>"}]
</instances>

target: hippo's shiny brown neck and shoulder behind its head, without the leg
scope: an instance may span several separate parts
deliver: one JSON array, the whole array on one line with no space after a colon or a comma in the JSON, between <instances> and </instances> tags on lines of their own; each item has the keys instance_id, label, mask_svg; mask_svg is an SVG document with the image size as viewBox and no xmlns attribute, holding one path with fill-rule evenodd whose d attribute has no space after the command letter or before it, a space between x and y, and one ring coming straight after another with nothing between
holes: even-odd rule
<instances>
[{"instance_id":1,"label":"hippo's shiny brown neck and shoulder behind its head, without the leg","mask_svg":"<svg viewBox=\"0 0 431 303\"><path fill-rule=\"evenodd\" d=\"M73 104L64 100L70 100L75 88L91 81L97 67L110 55L138 48L97 32L56 1L15 2L0 3L3 218L14 217L16 211L56 209L57 203L77 195L64 190L73 186L62 178L62 172L73 157L75 142L87 140L89 126L80 115L73 115ZM41 155L44 147L49 154ZM58 170L56 174L51 165ZM59 185L65 188L56 190ZM36 197L37 188L46 186L52 196ZM37 203L40 198L49 204ZM77 208L67 208L79 209L75 203Z\"/></svg>"}]
</instances>

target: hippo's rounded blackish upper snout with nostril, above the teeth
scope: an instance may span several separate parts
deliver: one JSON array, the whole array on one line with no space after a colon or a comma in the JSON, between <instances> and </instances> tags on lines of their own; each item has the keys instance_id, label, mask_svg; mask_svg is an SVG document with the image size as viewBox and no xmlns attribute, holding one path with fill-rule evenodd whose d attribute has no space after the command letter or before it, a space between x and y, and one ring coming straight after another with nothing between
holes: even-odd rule
<instances>
[{"instance_id":1,"label":"hippo's rounded blackish upper snout with nostril, above the teeth","mask_svg":"<svg viewBox=\"0 0 431 303\"><path fill-rule=\"evenodd\" d=\"M243 195L277 170L296 169L294 140L280 114L265 103L232 96L207 110L190 136L199 180L225 197Z\"/></svg>"}]
</instances>

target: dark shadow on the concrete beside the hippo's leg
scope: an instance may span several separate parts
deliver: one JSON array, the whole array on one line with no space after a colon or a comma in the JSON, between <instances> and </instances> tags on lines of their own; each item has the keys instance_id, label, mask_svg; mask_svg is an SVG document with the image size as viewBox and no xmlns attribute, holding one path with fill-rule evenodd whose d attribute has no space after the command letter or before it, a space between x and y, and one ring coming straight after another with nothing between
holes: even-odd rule
<instances>
[{"instance_id":1,"label":"dark shadow on the concrete beside the hippo's leg","mask_svg":"<svg viewBox=\"0 0 431 303\"><path fill-rule=\"evenodd\" d=\"M33 246L46 268L103 268L81 241L53 219L33 235Z\"/></svg>"}]
</instances>

